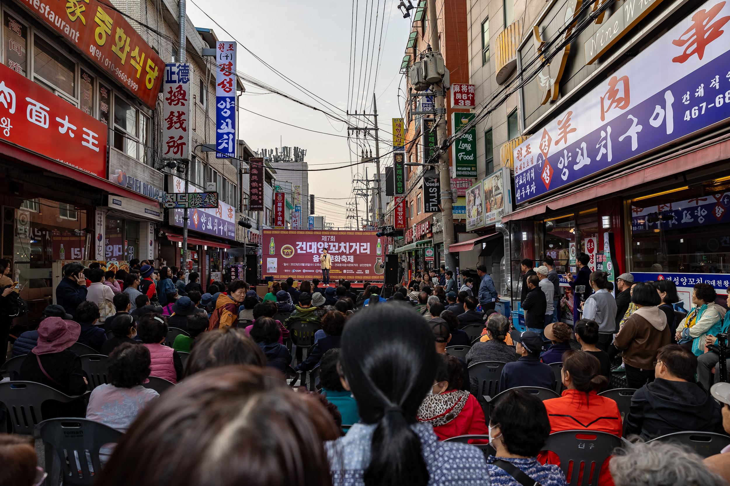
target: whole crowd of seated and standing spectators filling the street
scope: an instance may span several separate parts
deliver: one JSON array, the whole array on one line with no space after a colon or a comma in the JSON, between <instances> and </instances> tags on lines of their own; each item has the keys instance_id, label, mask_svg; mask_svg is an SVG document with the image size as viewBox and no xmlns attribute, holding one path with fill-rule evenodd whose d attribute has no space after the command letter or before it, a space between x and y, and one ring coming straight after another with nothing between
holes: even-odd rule
<instances>
[{"instance_id":1,"label":"whole crowd of seated and standing spectators filling the street","mask_svg":"<svg viewBox=\"0 0 730 486\"><path fill-rule=\"evenodd\" d=\"M678 319L671 282L623 274L614 288L583 264L569 281L587 279L588 294L576 297L583 308L569 326L552 260L523 262L519 331L496 312L499 295L482 266L461 288L442 268L360 293L344 280L292 278L266 292L240 280L203 288L196 273L185 283L177 268L136 263L128 273L66 265L57 304L12 346L26 356L19 380L77 397L48 401L43 418L88 418L123 433L99 484L562 486L565 465L545 444L577 428L635 442L600 465L599 486L730 479L730 448L703 461L648 442L677 431L730 434L730 385L715 383L718 359L705 357L717 356L707 347L728 323L705 284ZM295 351L300 323L316 332ZM472 339L462 328L475 324L484 329ZM174 342L171 328L182 331ZM88 377L69 349L76 343L107 356L107 384L87 396ZM469 347L464 358L450 355L455 345ZM484 361L504 364L491 410L469 371ZM599 395L619 362L636 388L623 414ZM150 377L176 385L158 393ZM293 377L309 386L292 390ZM564 391L543 401L520 387ZM464 435L480 437L447 440ZM475 447L486 444L491 453ZM20 436L0 434L0 463L0 485L34 485L42 474Z\"/></svg>"}]
</instances>

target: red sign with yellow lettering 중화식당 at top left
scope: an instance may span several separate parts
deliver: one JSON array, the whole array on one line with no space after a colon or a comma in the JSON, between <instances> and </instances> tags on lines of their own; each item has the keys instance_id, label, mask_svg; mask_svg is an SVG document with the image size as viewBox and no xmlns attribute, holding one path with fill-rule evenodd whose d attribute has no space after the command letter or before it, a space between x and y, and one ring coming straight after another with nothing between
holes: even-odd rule
<instances>
[{"instance_id":1,"label":"red sign with yellow lettering \uc911\ud654\uc2dd\ub2f9 at top left","mask_svg":"<svg viewBox=\"0 0 730 486\"><path fill-rule=\"evenodd\" d=\"M165 63L122 14L99 0L27 0L23 4L142 103L155 109Z\"/></svg>"}]
</instances>

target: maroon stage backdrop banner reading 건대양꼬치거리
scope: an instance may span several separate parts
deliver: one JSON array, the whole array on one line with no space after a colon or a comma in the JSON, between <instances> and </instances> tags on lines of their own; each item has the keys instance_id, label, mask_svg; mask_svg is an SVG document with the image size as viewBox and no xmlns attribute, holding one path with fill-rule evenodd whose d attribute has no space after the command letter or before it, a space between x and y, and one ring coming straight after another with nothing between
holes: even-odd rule
<instances>
[{"instance_id":1,"label":"maroon stage backdrop banner reading \uac74\ub300\uc591\uaf2c\uce58\uac70\ub9ac","mask_svg":"<svg viewBox=\"0 0 730 486\"><path fill-rule=\"evenodd\" d=\"M264 277L321 278L320 255L326 248L332 262L330 278L383 278L383 256L377 255L374 231L264 230L263 238L269 243Z\"/></svg>"}]
</instances>

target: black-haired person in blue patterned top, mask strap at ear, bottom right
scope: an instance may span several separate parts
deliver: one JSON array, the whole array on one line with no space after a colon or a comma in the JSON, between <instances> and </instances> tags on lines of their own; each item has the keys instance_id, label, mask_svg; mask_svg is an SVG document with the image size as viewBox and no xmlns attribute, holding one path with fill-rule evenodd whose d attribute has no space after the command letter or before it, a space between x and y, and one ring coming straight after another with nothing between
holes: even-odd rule
<instances>
[{"instance_id":1,"label":"black-haired person in blue patterned top, mask strap at ear, bottom right","mask_svg":"<svg viewBox=\"0 0 730 486\"><path fill-rule=\"evenodd\" d=\"M510 390L494 407L489 418L489 443L496 450L487 458L492 485L567 486L559 466L543 465L537 453L550 435L545 405L537 396ZM519 469L527 478L518 481L507 471Z\"/></svg>"}]
</instances>

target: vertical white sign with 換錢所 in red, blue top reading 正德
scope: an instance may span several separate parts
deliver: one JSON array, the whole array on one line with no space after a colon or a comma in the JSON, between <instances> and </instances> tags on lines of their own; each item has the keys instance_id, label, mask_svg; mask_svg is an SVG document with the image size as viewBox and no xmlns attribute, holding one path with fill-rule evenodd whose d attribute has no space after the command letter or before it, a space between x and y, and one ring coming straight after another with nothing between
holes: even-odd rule
<instances>
[{"instance_id":1,"label":"vertical white sign with \u63db\u9322\u6240 in red, blue top reading \u6b63\u5fb7","mask_svg":"<svg viewBox=\"0 0 730 486\"><path fill-rule=\"evenodd\" d=\"M162 144L164 159L190 158L190 66L165 64L162 102Z\"/></svg>"}]
</instances>

